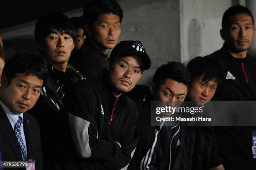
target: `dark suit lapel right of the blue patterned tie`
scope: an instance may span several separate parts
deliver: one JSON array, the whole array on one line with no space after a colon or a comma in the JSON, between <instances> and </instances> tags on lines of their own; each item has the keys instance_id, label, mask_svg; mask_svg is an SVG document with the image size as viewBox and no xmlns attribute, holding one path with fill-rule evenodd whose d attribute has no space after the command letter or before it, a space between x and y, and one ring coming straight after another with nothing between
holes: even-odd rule
<instances>
[{"instance_id":1,"label":"dark suit lapel right of the blue patterned tie","mask_svg":"<svg viewBox=\"0 0 256 170\"><path fill-rule=\"evenodd\" d=\"M33 149L32 141L31 141L31 125L29 120L27 119L27 113L23 113L23 125L24 125L24 133L26 138L26 147L27 147L27 159L33 159Z\"/></svg>"}]
</instances>

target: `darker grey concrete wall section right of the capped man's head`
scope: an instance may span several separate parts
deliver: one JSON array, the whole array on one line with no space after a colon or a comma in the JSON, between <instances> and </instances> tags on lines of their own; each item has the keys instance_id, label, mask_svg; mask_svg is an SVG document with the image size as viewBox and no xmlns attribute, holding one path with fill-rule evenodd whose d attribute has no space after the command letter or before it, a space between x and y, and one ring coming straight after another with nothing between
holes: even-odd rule
<instances>
[{"instance_id":1,"label":"darker grey concrete wall section right of the capped man's head","mask_svg":"<svg viewBox=\"0 0 256 170\"><path fill-rule=\"evenodd\" d=\"M140 40L152 60L140 84L151 81L156 68L180 61L179 0L120 0L124 11L120 40Z\"/></svg>"}]
</instances>

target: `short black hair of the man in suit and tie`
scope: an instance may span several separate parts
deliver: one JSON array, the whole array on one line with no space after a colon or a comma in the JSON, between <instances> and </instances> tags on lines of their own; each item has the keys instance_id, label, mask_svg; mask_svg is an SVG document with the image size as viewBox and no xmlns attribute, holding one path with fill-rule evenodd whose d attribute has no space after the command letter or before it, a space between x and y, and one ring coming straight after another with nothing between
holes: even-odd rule
<instances>
[{"instance_id":1,"label":"short black hair of the man in suit and tie","mask_svg":"<svg viewBox=\"0 0 256 170\"><path fill-rule=\"evenodd\" d=\"M46 82L48 77L46 58L39 53L29 51L18 52L5 63L3 75L8 80L8 85L17 74L26 73L36 76Z\"/></svg>"}]
</instances>

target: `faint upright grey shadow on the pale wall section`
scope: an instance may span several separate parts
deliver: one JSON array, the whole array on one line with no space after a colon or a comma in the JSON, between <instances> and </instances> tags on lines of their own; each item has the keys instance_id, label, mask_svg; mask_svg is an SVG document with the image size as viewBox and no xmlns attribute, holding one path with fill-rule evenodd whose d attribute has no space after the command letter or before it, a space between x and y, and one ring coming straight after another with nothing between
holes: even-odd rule
<instances>
[{"instance_id":1,"label":"faint upright grey shadow on the pale wall section","mask_svg":"<svg viewBox=\"0 0 256 170\"><path fill-rule=\"evenodd\" d=\"M200 55L202 50L202 28L197 19L192 19L189 23L188 32L188 47L189 47L189 59L193 59ZM184 64L187 65L188 61Z\"/></svg>"}]
</instances>

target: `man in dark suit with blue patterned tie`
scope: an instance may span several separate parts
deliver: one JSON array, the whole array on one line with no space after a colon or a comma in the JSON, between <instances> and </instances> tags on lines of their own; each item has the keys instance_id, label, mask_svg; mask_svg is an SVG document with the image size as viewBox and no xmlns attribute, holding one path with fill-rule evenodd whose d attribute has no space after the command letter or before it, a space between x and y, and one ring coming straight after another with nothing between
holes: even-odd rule
<instances>
[{"instance_id":1,"label":"man in dark suit with blue patterned tie","mask_svg":"<svg viewBox=\"0 0 256 170\"><path fill-rule=\"evenodd\" d=\"M42 169L39 125L26 111L38 100L46 77L47 62L41 55L18 53L6 62L0 90L0 157L3 161L33 161L36 170Z\"/></svg>"}]
</instances>

